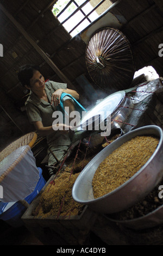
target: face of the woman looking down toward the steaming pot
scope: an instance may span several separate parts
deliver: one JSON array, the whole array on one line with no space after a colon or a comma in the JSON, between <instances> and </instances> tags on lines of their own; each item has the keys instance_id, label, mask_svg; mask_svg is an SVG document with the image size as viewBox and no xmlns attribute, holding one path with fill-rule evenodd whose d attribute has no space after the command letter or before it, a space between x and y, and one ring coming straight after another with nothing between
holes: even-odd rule
<instances>
[{"instance_id":1,"label":"face of the woman looking down toward the steaming pot","mask_svg":"<svg viewBox=\"0 0 163 256\"><path fill-rule=\"evenodd\" d=\"M33 77L30 78L30 89L33 92L41 92L45 89L45 79L39 71L35 71Z\"/></svg>"}]
</instances>

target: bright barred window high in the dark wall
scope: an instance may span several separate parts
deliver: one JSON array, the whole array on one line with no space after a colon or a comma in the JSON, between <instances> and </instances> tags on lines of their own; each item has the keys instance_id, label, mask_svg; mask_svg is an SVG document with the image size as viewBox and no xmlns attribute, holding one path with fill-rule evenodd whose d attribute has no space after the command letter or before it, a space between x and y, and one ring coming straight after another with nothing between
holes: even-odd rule
<instances>
[{"instance_id":1,"label":"bright barred window high in the dark wall","mask_svg":"<svg viewBox=\"0 0 163 256\"><path fill-rule=\"evenodd\" d=\"M109 0L58 0L52 12L71 36L95 21L112 5Z\"/></svg>"}]
</instances>

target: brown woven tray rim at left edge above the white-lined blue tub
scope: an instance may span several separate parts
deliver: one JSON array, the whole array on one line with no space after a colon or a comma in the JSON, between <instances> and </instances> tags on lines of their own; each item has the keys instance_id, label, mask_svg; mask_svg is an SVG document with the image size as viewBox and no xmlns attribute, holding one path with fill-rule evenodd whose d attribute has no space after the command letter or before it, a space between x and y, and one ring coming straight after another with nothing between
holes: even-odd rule
<instances>
[{"instance_id":1,"label":"brown woven tray rim at left edge above the white-lined blue tub","mask_svg":"<svg viewBox=\"0 0 163 256\"><path fill-rule=\"evenodd\" d=\"M15 151L17 148L20 148L22 146L29 145L31 148L35 141L37 139L37 135L35 132L27 133L26 135L18 138L16 141L10 143L5 149L3 149L0 153L0 162L10 155L13 151Z\"/></svg>"}]
</instances>

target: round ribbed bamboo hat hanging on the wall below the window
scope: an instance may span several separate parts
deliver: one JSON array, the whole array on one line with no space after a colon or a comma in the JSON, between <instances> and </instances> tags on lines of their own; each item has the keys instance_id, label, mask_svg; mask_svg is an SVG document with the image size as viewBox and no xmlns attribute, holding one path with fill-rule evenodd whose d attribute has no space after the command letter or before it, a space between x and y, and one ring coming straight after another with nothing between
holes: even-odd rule
<instances>
[{"instance_id":1,"label":"round ribbed bamboo hat hanging on the wall below the window","mask_svg":"<svg viewBox=\"0 0 163 256\"><path fill-rule=\"evenodd\" d=\"M96 31L86 47L86 66L92 80L105 92L129 88L135 68L126 36L114 28Z\"/></svg>"}]
</instances>

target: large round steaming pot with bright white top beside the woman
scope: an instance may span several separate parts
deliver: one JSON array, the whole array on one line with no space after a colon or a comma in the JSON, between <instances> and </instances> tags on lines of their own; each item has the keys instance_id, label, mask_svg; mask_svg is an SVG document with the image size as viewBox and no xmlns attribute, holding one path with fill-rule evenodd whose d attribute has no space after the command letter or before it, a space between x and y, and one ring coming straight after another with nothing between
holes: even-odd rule
<instances>
[{"instance_id":1,"label":"large round steaming pot with bright white top beside the woman","mask_svg":"<svg viewBox=\"0 0 163 256\"><path fill-rule=\"evenodd\" d=\"M133 111L133 102L128 97L125 97L126 93L122 90L114 94L105 97L96 106L92 107L89 112L87 112L80 123L77 125L76 130L74 130L72 143L77 144L82 138L86 138L86 141L90 139L91 147L96 147L103 142L104 136L101 130L95 130L95 123L101 124L106 121L109 114L109 131L121 129L128 116ZM100 116L100 118L99 118ZM88 127L92 127L89 130ZM106 136L109 136L110 133ZM106 133L107 134L107 133Z\"/></svg>"}]
</instances>

